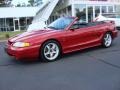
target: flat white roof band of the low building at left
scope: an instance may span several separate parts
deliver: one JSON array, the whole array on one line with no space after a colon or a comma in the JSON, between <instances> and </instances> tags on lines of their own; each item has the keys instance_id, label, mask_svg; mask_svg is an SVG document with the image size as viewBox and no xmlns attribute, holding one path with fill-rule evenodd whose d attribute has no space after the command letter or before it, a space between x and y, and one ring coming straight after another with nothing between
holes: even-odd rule
<instances>
[{"instance_id":1,"label":"flat white roof band of the low building at left","mask_svg":"<svg viewBox=\"0 0 120 90\"><path fill-rule=\"evenodd\" d=\"M0 8L0 18L33 17L39 7L4 7Z\"/></svg>"}]
</instances>

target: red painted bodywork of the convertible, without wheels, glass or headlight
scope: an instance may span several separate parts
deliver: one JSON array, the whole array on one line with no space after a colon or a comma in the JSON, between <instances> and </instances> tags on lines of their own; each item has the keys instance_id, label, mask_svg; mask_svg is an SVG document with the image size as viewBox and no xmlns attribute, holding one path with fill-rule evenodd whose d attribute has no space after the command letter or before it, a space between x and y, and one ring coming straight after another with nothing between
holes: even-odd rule
<instances>
[{"instance_id":1,"label":"red painted bodywork of the convertible, without wheels, glass or headlight","mask_svg":"<svg viewBox=\"0 0 120 90\"><path fill-rule=\"evenodd\" d=\"M102 38L108 31L112 33L113 39L117 37L117 30L113 22L71 30L70 27L76 20L77 18L74 18L74 21L64 30L45 29L25 32L21 35L12 37L8 40L6 52L16 59L31 59L39 57L41 45L47 40L52 39L58 41L62 47L62 53L68 53L101 45ZM13 46L15 42L28 42L30 46L17 48Z\"/></svg>"}]
</instances>

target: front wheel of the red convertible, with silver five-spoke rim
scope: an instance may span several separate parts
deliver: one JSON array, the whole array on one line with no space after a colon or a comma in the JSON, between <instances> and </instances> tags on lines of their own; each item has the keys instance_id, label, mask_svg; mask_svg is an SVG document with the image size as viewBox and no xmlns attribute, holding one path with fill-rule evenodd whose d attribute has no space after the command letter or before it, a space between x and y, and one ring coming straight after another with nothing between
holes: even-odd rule
<instances>
[{"instance_id":1,"label":"front wheel of the red convertible, with silver five-spoke rim","mask_svg":"<svg viewBox=\"0 0 120 90\"><path fill-rule=\"evenodd\" d=\"M54 40L46 41L40 50L40 59L44 62L53 62L61 54L60 44Z\"/></svg>"}]
</instances>

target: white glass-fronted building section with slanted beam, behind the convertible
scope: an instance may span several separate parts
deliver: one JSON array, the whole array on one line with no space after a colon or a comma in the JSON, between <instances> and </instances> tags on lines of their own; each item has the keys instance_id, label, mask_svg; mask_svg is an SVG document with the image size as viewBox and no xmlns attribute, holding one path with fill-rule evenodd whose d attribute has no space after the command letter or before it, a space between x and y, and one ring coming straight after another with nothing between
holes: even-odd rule
<instances>
[{"instance_id":1,"label":"white glass-fronted building section with slanted beam, behind the convertible","mask_svg":"<svg viewBox=\"0 0 120 90\"><path fill-rule=\"evenodd\" d=\"M49 24L58 17L76 16L77 13L85 22L93 21L100 13L120 14L120 0L49 0L37 12L33 22L42 18Z\"/></svg>"}]
</instances>

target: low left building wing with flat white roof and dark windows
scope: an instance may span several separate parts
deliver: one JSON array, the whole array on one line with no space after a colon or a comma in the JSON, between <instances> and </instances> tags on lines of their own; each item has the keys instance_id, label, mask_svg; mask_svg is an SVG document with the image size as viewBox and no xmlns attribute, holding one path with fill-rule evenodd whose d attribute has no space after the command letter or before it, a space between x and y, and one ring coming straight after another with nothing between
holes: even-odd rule
<instances>
[{"instance_id":1,"label":"low left building wing with flat white roof and dark windows","mask_svg":"<svg viewBox=\"0 0 120 90\"><path fill-rule=\"evenodd\" d=\"M38 7L0 8L0 31L26 30L38 10Z\"/></svg>"}]
</instances>

